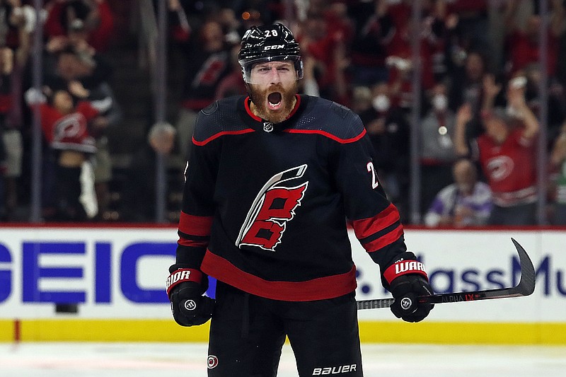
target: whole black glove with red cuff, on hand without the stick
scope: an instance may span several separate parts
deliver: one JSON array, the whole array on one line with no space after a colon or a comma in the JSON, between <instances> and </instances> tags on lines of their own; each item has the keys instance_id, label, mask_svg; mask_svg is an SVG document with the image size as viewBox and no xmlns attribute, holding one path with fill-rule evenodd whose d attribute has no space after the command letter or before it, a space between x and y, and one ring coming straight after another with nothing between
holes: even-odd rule
<instances>
[{"instance_id":1,"label":"whole black glove with red cuff, on hand without the stick","mask_svg":"<svg viewBox=\"0 0 566 377\"><path fill-rule=\"evenodd\" d=\"M175 322L181 326L195 326L212 318L214 300L202 296L208 288L208 279L197 269L177 269L167 279L167 294Z\"/></svg>"}]
</instances>

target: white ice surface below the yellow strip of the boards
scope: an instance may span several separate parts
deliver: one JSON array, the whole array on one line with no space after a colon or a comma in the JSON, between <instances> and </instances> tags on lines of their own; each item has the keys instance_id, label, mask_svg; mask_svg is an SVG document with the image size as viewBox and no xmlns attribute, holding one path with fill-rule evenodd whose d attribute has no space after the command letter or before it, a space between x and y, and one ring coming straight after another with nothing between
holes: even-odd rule
<instances>
[{"instance_id":1,"label":"white ice surface below the yellow strip of the boards","mask_svg":"<svg viewBox=\"0 0 566 377\"><path fill-rule=\"evenodd\" d=\"M566 376L566 347L363 344L362 353L366 377ZM206 377L206 359L195 343L0 343L0 376ZM297 376L286 344L278 377Z\"/></svg>"}]
</instances>

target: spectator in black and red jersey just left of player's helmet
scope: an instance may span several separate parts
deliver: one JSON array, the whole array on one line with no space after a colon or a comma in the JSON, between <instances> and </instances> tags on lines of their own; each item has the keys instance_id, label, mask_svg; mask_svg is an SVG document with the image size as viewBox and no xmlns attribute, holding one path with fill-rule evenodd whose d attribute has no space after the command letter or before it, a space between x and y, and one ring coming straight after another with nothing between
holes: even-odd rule
<instances>
[{"instance_id":1,"label":"spectator in black and red jersey just left of player's helmet","mask_svg":"<svg viewBox=\"0 0 566 377\"><path fill-rule=\"evenodd\" d=\"M216 88L232 66L230 47L216 21L204 23L183 48L186 76L175 127L181 155L190 156L190 139L197 114L214 101Z\"/></svg>"}]
</instances>

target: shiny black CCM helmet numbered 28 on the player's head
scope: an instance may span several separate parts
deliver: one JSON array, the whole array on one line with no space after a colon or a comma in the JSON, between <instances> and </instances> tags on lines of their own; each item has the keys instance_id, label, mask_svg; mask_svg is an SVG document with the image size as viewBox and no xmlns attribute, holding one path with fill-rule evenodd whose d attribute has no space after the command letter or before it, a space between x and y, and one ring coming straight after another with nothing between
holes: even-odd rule
<instances>
[{"instance_id":1,"label":"shiny black CCM helmet numbered 28 on the player's head","mask_svg":"<svg viewBox=\"0 0 566 377\"><path fill-rule=\"evenodd\" d=\"M303 61L299 43L291 30L282 23L274 25L252 26L242 37L238 62L246 83L250 82L250 72L255 64L263 62L294 63L297 79L303 78Z\"/></svg>"}]
</instances>

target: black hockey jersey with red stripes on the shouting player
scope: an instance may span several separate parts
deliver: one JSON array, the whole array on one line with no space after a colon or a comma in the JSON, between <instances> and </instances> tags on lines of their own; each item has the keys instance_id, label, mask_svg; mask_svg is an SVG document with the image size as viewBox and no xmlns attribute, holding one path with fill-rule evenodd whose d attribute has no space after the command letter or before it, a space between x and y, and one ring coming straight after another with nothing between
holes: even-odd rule
<instances>
[{"instance_id":1,"label":"black hockey jersey with red stripes on the shouting player","mask_svg":"<svg viewBox=\"0 0 566 377\"><path fill-rule=\"evenodd\" d=\"M244 96L200 112L176 267L250 294L311 301L356 289L348 223L381 271L406 250L359 117L329 100L296 98L279 124L253 115Z\"/></svg>"}]
</instances>

